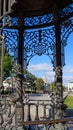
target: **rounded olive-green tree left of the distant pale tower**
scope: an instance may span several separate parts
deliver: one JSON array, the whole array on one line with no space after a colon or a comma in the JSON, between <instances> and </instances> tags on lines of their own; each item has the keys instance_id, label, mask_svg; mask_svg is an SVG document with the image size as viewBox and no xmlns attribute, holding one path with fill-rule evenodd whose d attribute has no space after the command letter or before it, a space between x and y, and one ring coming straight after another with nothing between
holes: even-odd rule
<instances>
[{"instance_id":1,"label":"rounded olive-green tree left of the distant pale tower","mask_svg":"<svg viewBox=\"0 0 73 130\"><path fill-rule=\"evenodd\" d=\"M42 78L37 78L35 82L36 90L37 91L44 91L44 81Z\"/></svg>"}]
</instances>

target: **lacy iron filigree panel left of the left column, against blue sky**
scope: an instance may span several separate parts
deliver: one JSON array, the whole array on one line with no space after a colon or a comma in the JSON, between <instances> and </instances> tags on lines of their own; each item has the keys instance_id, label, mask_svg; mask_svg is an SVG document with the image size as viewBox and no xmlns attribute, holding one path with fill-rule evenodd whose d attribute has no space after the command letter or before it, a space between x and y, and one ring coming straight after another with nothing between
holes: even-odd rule
<instances>
[{"instance_id":1,"label":"lacy iron filigree panel left of the left column, against blue sky","mask_svg":"<svg viewBox=\"0 0 73 130\"><path fill-rule=\"evenodd\" d=\"M18 31L11 29L3 29L3 35L5 36L6 49L11 56L14 56L18 43Z\"/></svg>"}]
</instances>

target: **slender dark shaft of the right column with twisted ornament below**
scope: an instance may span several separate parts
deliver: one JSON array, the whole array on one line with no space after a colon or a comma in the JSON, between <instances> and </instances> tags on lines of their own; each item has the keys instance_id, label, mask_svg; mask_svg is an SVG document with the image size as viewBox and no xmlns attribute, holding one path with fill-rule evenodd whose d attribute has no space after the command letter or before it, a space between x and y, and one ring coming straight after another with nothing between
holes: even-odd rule
<instances>
[{"instance_id":1,"label":"slender dark shaft of the right column with twisted ornament below","mask_svg":"<svg viewBox=\"0 0 73 130\"><path fill-rule=\"evenodd\" d=\"M56 87L57 87L57 108L63 103L63 88L62 88L62 60L61 60L61 28L60 28L60 15L58 8L55 8L55 37L56 37ZM58 115L62 118L62 112Z\"/></svg>"}]
</instances>

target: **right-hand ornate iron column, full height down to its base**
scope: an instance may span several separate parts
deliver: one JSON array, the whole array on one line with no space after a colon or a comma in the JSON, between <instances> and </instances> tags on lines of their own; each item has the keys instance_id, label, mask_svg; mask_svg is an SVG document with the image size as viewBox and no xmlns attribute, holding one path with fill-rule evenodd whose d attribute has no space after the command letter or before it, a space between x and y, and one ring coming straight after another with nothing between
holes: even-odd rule
<instances>
[{"instance_id":1,"label":"right-hand ornate iron column, full height down to its base","mask_svg":"<svg viewBox=\"0 0 73 130\"><path fill-rule=\"evenodd\" d=\"M57 6L54 6L54 21L55 21L55 38L56 38L56 119L62 119L66 106L63 104L63 85L62 85L62 56L61 56L61 25L60 12ZM66 130L65 124L59 123L56 129Z\"/></svg>"}]
</instances>

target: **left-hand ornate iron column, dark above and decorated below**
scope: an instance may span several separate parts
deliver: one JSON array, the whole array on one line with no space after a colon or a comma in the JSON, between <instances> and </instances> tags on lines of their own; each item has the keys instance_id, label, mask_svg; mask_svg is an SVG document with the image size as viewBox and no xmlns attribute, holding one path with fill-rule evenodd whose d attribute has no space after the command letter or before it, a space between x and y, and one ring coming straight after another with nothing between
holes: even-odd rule
<instances>
[{"instance_id":1,"label":"left-hand ornate iron column, dark above and decorated below","mask_svg":"<svg viewBox=\"0 0 73 130\"><path fill-rule=\"evenodd\" d=\"M19 15L18 31L19 31L19 40L18 40L18 65L20 67L18 73L19 86L18 86L18 100L16 101L16 124L24 121L24 105L23 105L23 26L24 18L22 13ZM22 130L23 126L18 127Z\"/></svg>"}]
</instances>

